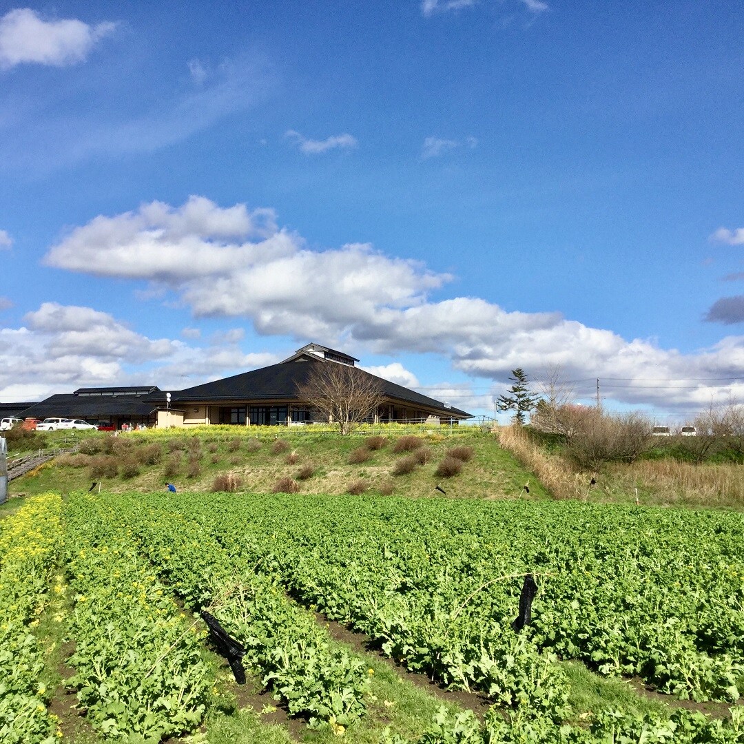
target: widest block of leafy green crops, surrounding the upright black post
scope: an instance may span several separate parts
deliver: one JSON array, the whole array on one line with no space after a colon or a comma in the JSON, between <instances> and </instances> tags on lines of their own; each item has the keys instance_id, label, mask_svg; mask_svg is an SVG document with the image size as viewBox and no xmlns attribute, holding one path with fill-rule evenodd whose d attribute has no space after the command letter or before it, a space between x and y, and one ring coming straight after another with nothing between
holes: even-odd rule
<instances>
[{"instance_id":1,"label":"widest block of leafy green crops, surrounding the upright black post","mask_svg":"<svg viewBox=\"0 0 744 744\"><path fill-rule=\"evenodd\" d=\"M739 515L275 501L194 508L228 550L249 551L293 594L446 684L498 695L482 655L498 660L498 649L510 656L526 644L679 697L733 702L744 693ZM529 643L508 629L527 573L540 586Z\"/></svg>"}]
</instances>

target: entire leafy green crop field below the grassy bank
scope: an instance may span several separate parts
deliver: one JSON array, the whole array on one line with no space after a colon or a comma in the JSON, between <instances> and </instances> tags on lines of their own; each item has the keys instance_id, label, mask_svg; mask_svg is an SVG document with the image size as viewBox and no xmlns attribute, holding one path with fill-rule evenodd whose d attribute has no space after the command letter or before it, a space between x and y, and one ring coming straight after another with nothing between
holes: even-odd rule
<instances>
[{"instance_id":1,"label":"entire leafy green crop field below the grassy bank","mask_svg":"<svg viewBox=\"0 0 744 744\"><path fill-rule=\"evenodd\" d=\"M738 513L160 490L17 503L0 520L2 742L744 742ZM201 610L243 646L248 684Z\"/></svg>"}]
</instances>

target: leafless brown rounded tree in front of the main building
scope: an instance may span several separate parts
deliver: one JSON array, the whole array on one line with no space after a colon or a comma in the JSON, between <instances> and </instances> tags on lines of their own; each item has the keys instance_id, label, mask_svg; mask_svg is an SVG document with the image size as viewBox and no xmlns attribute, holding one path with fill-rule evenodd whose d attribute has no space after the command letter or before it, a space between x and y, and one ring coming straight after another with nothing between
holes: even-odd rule
<instances>
[{"instance_id":1,"label":"leafless brown rounded tree in front of the main building","mask_svg":"<svg viewBox=\"0 0 744 744\"><path fill-rule=\"evenodd\" d=\"M368 372L339 362L310 362L312 371L297 386L298 396L349 434L376 414L385 401L382 383Z\"/></svg>"}]
</instances>

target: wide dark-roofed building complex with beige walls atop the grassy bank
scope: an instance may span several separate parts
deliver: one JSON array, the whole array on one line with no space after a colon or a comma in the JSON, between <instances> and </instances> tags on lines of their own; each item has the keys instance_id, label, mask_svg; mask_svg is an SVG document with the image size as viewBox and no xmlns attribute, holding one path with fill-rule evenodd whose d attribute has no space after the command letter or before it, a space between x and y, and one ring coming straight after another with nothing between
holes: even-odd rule
<instances>
[{"instance_id":1,"label":"wide dark-roofed building complex with beige walls atop the grassy bank","mask_svg":"<svg viewBox=\"0 0 744 744\"><path fill-rule=\"evenodd\" d=\"M53 395L19 412L20 417L51 416L81 418L116 429L132 426L292 426L318 420L307 401L301 400L304 385L315 365L339 364L354 367L359 359L341 351L307 344L277 365L244 372L170 394L149 385L128 388L80 388L70 394ZM458 423L471 414L429 398L403 385L376 379L383 403L374 420L381 423Z\"/></svg>"}]
</instances>

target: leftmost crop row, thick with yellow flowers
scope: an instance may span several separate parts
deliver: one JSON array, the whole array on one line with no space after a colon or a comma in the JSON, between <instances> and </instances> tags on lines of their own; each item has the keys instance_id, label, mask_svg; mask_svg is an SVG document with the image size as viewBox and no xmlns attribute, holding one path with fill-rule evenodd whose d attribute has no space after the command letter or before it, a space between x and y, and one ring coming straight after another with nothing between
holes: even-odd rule
<instances>
[{"instance_id":1,"label":"leftmost crop row, thick with yellow flowers","mask_svg":"<svg viewBox=\"0 0 744 744\"><path fill-rule=\"evenodd\" d=\"M0 525L0 741L51 744L55 720L42 682L45 654L32 629L48 601L62 541L62 501L45 495Z\"/></svg>"}]
</instances>

